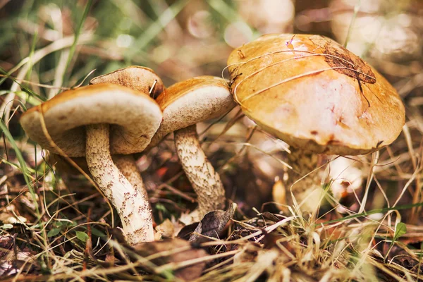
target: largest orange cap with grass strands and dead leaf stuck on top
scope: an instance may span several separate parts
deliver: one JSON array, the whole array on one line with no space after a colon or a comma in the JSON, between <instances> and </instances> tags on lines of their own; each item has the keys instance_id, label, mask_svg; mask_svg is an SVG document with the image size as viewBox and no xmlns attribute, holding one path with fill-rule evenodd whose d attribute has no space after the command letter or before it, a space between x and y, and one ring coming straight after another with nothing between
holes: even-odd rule
<instances>
[{"instance_id":1,"label":"largest orange cap with grass strands and dead leaf stuck on top","mask_svg":"<svg viewBox=\"0 0 423 282\"><path fill-rule=\"evenodd\" d=\"M231 92L264 130L311 152L365 154L405 122L396 90L372 66L319 35L264 35L228 59Z\"/></svg>"}]
</instances>

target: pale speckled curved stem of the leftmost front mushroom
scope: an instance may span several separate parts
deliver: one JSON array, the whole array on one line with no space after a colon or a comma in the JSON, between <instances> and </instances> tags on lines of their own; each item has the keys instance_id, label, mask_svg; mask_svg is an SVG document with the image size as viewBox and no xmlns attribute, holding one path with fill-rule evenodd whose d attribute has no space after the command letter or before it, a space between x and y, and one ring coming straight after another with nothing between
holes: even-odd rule
<instances>
[{"instance_id":1,"label":"pale speckled curved stem of the leftmost front mushroom","mask_svg":"<svg viewBox=\"0 0 423 282\"><path fill-rule=\"evenodd\" d=\"M94 181L116 208L129 245L153 241L152 212L147 197L118 170L109 150L109 125L86 126L86 157Z\"/></svg>"}]
</instances>

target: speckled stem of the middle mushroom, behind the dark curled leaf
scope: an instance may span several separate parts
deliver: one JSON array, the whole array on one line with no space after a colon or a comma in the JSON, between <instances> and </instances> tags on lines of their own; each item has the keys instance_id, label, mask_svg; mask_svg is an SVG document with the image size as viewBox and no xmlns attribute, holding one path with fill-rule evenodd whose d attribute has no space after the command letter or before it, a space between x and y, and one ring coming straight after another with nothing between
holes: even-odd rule
<instances>
[{"instance_id":1,"label":"speckled stem of the middle mushroom, behind the dark curled leaf","mask_svg":"<svg viewBox=\"0 0 423 282\"><path fill-rule=\"evenodd\" d=\"M207 212L225 207L225 190L218 173L214 171L198 140L195 125L176 130L175 147L185 175L197 193L198 213L202 217Z\"/></svg>"}]
</instances>

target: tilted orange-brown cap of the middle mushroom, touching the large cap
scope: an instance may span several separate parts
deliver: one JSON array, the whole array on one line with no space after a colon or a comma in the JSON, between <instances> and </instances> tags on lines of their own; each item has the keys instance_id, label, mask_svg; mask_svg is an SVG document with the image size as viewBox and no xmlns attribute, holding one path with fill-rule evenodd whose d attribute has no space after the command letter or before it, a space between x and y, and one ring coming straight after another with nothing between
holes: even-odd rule
<instances>
[{"instance_id":1,"label":"tilted orange-brown cap of the middle mushroom, touching the large cap","mask_svg":"<svg viewBox=\"0 0 423 282\"><path fill-rule=\"evenodd\" d=\"M235 102L226 80L204 75L178 82L157 97L163 122L154 135L154 147L168 133L226 114Z\"/></svg>"}]
</instances>

